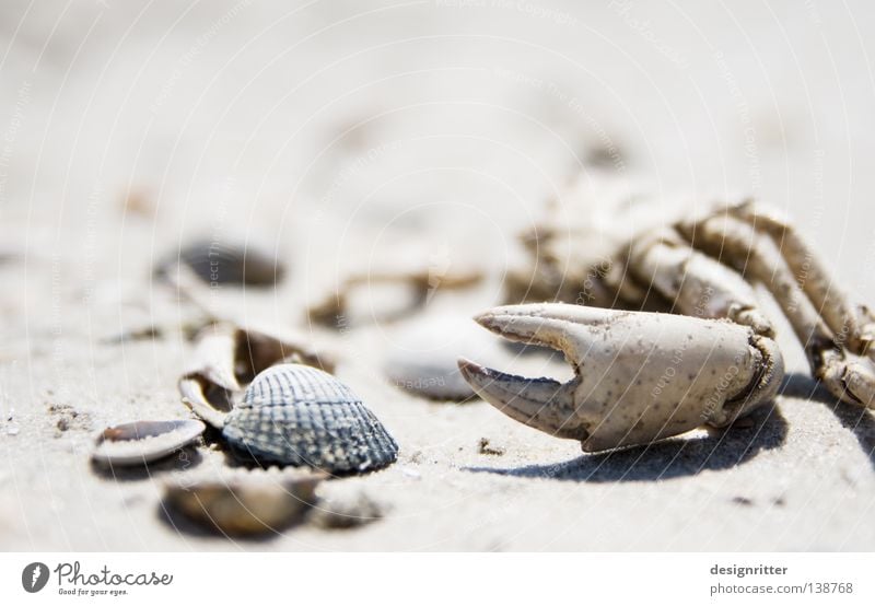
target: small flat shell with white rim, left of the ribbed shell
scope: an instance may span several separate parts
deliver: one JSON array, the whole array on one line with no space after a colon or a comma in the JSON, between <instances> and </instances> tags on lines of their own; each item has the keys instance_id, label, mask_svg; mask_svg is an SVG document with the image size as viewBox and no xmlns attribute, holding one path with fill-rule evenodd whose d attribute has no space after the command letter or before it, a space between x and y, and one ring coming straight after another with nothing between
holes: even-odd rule
<instances>
[{"instance_id":1,"label":"small flat shell with white rim, left of the ribbed shell","mask_svg":"<svg viewBox=\"0 0 875 606\"><path fill-rule=\"evenodd\" d=\"M196 419L124 423L104 430L91 457L103 465L143 465L190 444L205 429Z\"/></svg>"}]
</instances>

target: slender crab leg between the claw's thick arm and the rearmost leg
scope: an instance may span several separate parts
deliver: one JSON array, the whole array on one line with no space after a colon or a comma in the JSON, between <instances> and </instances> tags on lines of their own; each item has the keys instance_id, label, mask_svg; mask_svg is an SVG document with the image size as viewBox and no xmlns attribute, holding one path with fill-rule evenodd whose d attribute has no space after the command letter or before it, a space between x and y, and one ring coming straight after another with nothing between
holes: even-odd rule
<instances>
[{"instance_id":1,"label":"slender crab leg between the claw's thick arm and the rearmost leg","mask_svg":"<svg viewBox=\"0 0 875 606\"><path fill-rule=\"evenodd\" d=\"M850 362L841 343L800 287L778 244L750 224L731 215L713 215L681 225L692 244L722 255L738 271L766 284L803 343L812 372L845 401L875 406L875 372Z\"/></svg>"}]
</instances>

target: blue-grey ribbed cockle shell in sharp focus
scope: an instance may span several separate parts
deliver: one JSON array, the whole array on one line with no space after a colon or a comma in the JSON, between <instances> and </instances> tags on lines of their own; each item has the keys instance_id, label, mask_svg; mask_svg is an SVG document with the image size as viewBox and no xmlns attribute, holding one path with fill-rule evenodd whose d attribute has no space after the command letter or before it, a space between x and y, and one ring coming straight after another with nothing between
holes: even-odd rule
<instances>
[{"instance_id":1,"label":"blue-grey ribbed cockle shell in sharp focus","mask_svg":"<svg viewBox=\"0 0 875 606\"><path fill-rule=\"evenodd\" d=\"M228 413L222 434L259 463L363 473L395 462L398 445L343 383L312 366L258 374Z\"/></svg>"}]
</instances>

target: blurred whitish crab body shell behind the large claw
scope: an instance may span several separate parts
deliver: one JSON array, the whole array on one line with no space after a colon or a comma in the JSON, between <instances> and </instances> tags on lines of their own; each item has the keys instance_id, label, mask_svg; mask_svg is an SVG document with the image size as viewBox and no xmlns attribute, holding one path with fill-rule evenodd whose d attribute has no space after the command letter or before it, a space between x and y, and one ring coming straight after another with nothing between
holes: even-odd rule
<instances>
[{"instance_id":1,"label":"blurred whitish crab body shell behind the large claw","mask_svg":"<svg viewBox=\"0 0 875 606\"><path fill-rule=\"evenodd\" d=\"M575 178L560 198L550 200L546 217L522 234L525 260L508 273L504 302L557 301L598 307L626 302L637 310L669 311L653 292L639 301L637 289L626 290L625 257L630 246L644 234L705 215L737 196L638 194L648 190L643 184L630 185L597 170Z\"/></svg>"}]
</instances>

